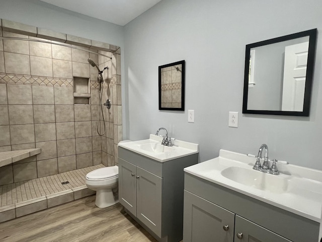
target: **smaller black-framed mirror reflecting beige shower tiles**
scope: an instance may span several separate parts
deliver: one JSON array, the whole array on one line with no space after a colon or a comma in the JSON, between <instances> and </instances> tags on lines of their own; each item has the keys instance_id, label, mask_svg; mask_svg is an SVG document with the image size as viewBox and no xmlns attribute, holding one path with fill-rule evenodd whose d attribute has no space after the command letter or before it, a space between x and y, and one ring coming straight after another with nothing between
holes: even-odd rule
<instances>
[{"instance_id":1,"label":"smaller black-framed mirror reflecting beige shower tiles","mask_svg":"<svg viewBox=\"0 0 322 242\"><path fill-rule=\"evenodd\" d=\"M185 110L185 61L159 66L159 110Z\"/></svg>"}]
</instances>

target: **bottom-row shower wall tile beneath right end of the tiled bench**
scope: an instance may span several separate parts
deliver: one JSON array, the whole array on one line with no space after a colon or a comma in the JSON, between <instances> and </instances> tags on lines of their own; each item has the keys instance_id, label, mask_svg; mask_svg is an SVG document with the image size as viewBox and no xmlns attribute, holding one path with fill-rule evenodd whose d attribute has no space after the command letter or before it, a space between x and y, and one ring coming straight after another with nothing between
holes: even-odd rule
<instances>
[{"instance_id":1,"label":"bottom-row shower wall tile beneath right end of the tiled bench","mask_svg":"<svg viewBox=\"0 0 322 242\"><path fill-rule=\"evenodd\" d=\"M37 164L36 161L13 165L14 182L30 180L37 178Z\"/></svg>"}]
</instances>

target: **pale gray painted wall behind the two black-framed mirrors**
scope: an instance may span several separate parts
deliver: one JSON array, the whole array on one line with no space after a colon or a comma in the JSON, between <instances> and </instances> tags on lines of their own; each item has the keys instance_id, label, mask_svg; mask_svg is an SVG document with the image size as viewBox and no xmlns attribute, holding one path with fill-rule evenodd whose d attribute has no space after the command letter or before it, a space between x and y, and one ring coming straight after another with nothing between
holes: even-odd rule
<instances>
[{"instance_id":1,"label":"pale gray painted wall behind the two black-framed mirrors","mask_svg":"<svg viewBox=\"0 0 322 242\"><path fill-rule=\"evenodd\" d=\"M301 16L299 18L299 16ZM322 29L317 0L163 0L125 26L128 102L124 137L145 139L159 127L200 145L200 161L219 149L257 153L322 169L321 39L317 40L309 117L242 114L246 44L312 28ZM184 112L158 110L160 65L186 60ZM195 123L187 122L188 109ZM228 128L228 112L239 112Z\"/></svg>"}]
</instances>

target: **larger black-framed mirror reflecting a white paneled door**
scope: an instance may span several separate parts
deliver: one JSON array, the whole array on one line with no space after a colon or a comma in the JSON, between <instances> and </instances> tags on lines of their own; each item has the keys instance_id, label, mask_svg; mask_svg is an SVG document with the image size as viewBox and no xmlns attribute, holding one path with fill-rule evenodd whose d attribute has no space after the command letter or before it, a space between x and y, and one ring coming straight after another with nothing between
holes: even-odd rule
<instances>
[{"instance_id":1,"label":"larger black-framed mirror reflecting a white paneled door","mask_svg":"<svg viewBox=\"0 0 322 242\"><path fill-rule=\"evenodd\" d=\"M309 115L316 32L246 45L243 113Z\"/></svg>"}]
</instances>

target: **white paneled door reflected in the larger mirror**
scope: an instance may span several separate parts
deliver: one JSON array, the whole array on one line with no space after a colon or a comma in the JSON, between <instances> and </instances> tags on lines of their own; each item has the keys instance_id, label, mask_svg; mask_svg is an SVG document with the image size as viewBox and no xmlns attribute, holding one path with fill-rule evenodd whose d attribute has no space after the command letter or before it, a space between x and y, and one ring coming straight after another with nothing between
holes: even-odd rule
<instances>
[{"instance_id":1,"label":"white paneled door reflected in the larger mirror","mask_svg":"<svg viewBox=\"0 0 322 242\"><path fill-rule=\"evenodd\" d=\"M308 42L285 47L282 111L302 111Z\"/></svg>"}]
</instances>

